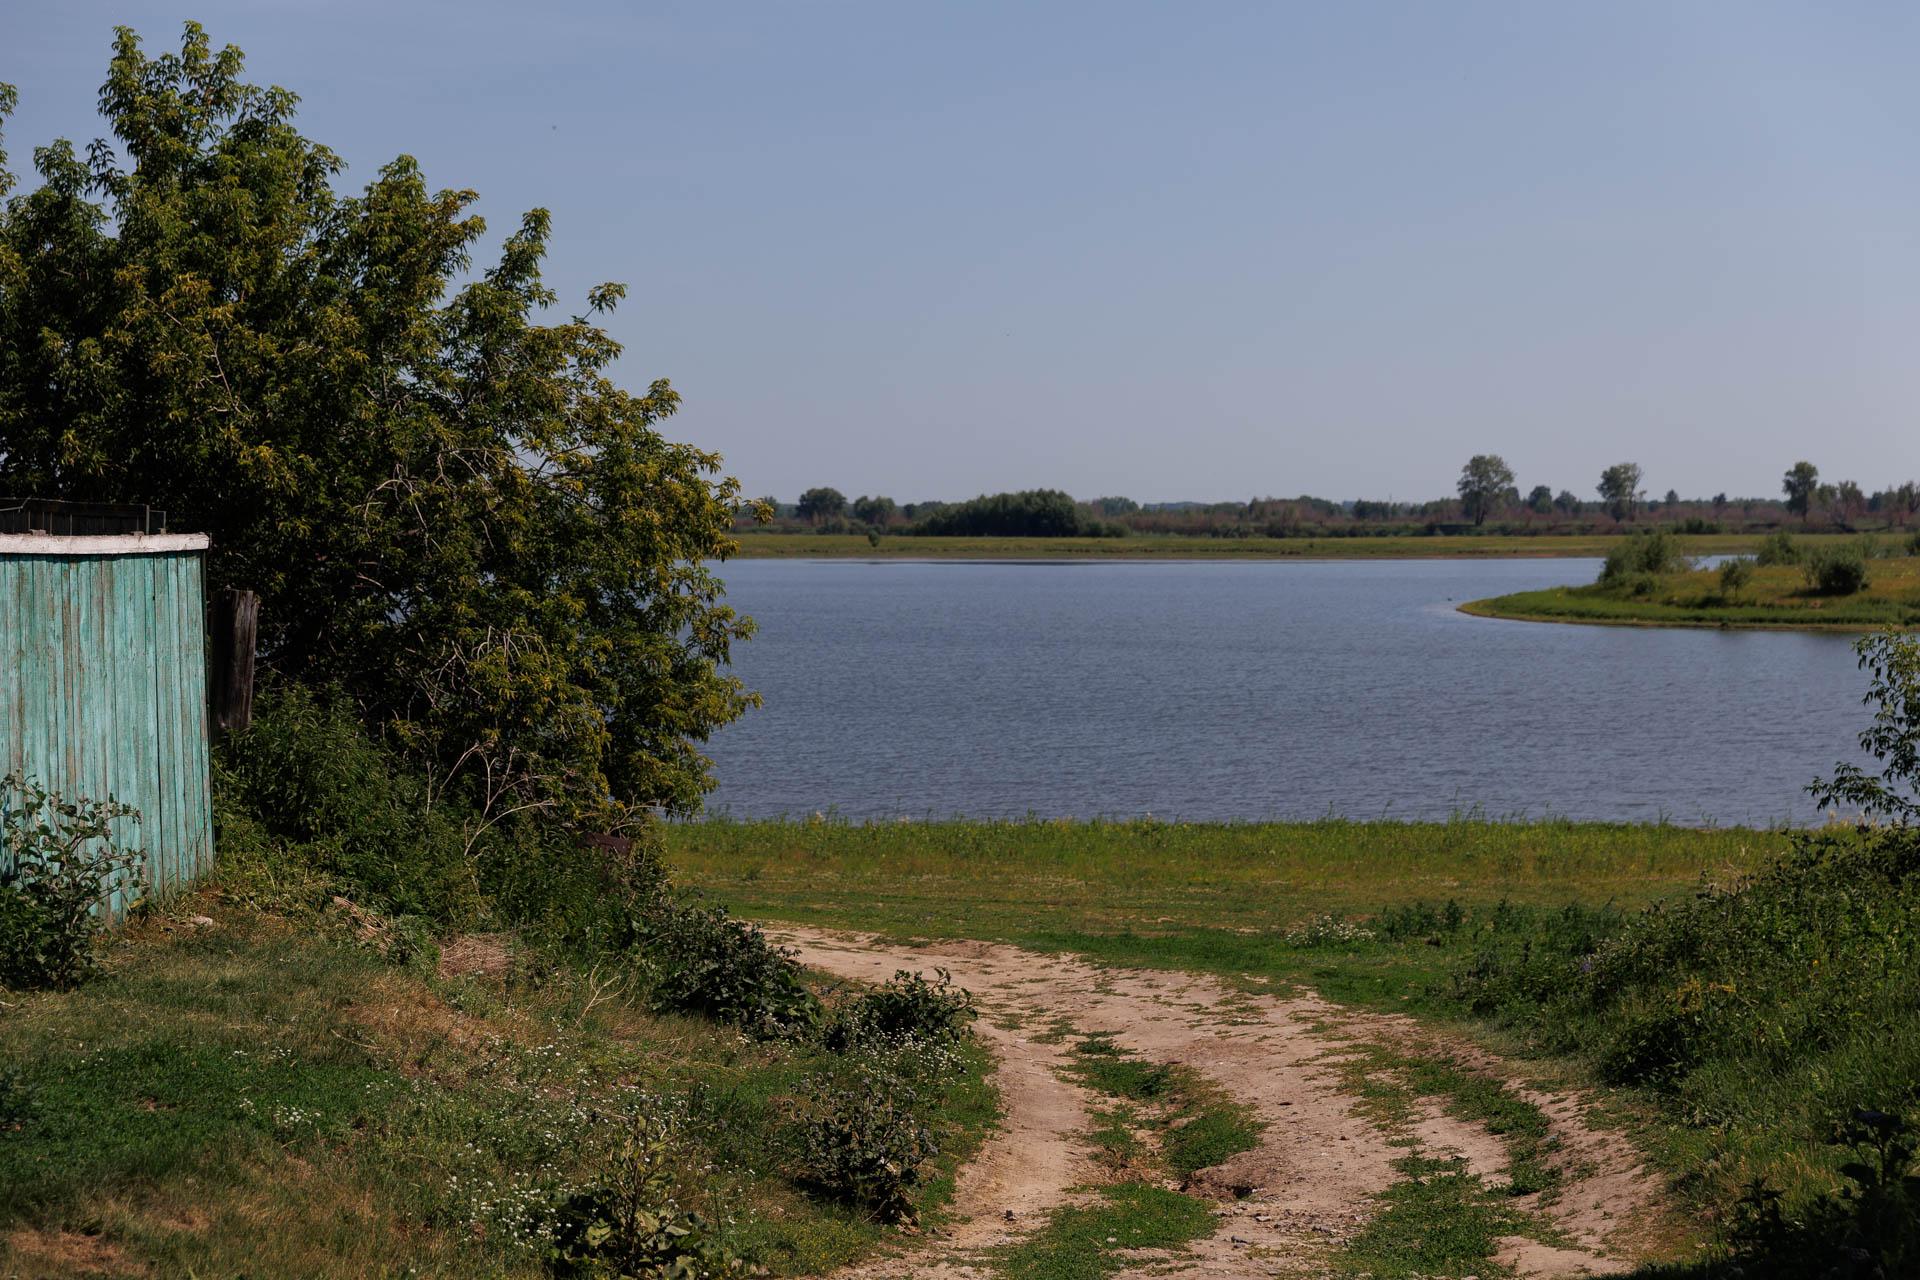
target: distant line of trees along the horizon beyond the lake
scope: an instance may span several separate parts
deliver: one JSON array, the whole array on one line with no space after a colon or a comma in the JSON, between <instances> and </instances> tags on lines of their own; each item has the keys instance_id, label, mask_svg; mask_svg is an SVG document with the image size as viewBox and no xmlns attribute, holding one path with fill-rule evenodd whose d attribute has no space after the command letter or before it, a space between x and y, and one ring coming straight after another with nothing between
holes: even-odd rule
<instances>
[{"instance_id":1,"label":"distant line of trees along the horizon beyond the lake","mask_svg":"<svg viewBox=\"0 0 1920 1280\"><path fill-rule=\"evenodd\" d=\"M966 503L895 503L833 487L814 487L795 503L774 497L741 509L772 512L780 532L916 533L925 537L1125 537L1183 533L1190 537L1379 537L1457 533L1611 533L1667 528L1678 533L1768 532L1786 526L1862 532L1905 528L1920 514L1920 482L1901 482L1868 493L1853 480L1826 484L1812 462L1793 462L1782 476L1780 497L1682 499L1674 489L1649 497L1638 462L1601 470L1584 499L1572 489L1536 484L1521 489L1498 453L1476 453L1461 466L1453 497L1430 501L1352 499L1313 495L1252 497L1244 503L1140 503L1131 497L1073 499L1060 489L983 493Z\"/></svg>"}]
</instances>

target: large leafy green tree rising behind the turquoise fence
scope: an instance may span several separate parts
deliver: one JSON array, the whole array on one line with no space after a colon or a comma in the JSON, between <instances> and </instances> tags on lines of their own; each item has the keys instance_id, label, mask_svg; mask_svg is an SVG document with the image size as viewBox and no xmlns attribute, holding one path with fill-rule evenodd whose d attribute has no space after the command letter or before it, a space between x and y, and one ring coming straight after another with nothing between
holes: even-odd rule
<instances>
[{"instance_id":1,"label":"large leafy green tree rising behind the turquoise fence","mask_svg":"<svg viewBox=\"0 0 1920 1280\"><path fill-rule=\"evenodd\" d=\"M0 96L0 123L13 92ZM261 658L346 691L476 821L687 812L699 743L753 702L710 572L737 486L666 439L586 313L545 322L547 213L484 271L474 192L394 159L359 194L294 94L188 25L121 29L113 142L0 152L0 493L165 507Z\"/></svg>"}]
</instances>

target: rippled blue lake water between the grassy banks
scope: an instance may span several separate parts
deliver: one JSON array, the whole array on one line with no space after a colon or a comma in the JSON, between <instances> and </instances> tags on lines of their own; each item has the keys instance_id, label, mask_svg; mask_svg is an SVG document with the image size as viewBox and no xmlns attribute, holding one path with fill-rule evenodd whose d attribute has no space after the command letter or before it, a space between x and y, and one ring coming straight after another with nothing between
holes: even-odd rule
<instances>
[{"instance_id":1,"label":"rippled blue lake water between the grassy banks","mask_svg":"<svg viewBox=\"0 0 1920 1280\"><path fill-rule=\"evenodd\" d=\"M714 814L1807 821L1851 637L1492 622L1596 560L735 560Z\"/></svg>"}]
</instances>

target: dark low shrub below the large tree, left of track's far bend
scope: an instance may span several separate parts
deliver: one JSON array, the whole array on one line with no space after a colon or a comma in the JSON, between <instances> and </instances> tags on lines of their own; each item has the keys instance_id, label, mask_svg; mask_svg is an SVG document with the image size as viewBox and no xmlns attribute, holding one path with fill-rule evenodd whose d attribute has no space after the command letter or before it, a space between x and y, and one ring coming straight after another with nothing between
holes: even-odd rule
<instances>
[{"instance_id":1,"label":"dark low shrub below the large tree, left of track's far bend","mask_svg":"<svg viewBox=\"0 0 1920 1280\"><path fill-rule=\"evenodd\" d=\"M660 900L636 921L636 942L655 1009L705 1013L760 1040L820 1021L793 954L724 906Z\"/></svg>"}]
</instances>

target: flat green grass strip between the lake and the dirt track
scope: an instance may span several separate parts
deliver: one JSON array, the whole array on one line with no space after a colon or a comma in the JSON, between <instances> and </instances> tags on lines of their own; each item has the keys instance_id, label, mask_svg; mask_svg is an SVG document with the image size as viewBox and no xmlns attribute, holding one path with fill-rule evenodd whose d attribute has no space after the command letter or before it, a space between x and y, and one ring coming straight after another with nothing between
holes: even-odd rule
<instances>
[{"instance_id":1,"label":"flat green grass strip between the lake and the dirt track","mask_svg":"<svg viewBox=\"0 0 1920 1280\"><path fill-rule=\"evenodd\" d=\"M1288 931L1411 902L1636 908L1784 846L1741 827L1469 819L705 821L666 833L676 877L758 917L1300 981L1384 1007L1423 1002L1471 938L1302 946Z\"/></svg>"}]
</instances>

